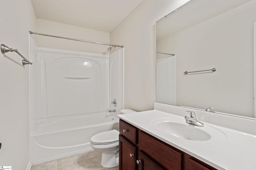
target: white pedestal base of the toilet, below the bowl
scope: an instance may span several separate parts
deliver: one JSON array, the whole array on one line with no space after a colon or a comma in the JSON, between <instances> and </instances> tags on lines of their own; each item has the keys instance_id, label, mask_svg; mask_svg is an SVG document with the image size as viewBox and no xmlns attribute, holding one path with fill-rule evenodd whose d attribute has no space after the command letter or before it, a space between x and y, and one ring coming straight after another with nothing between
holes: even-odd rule
<instances>
[{"instance_id":1,"label":"white pedestal base of the toilet, below the bowl","mask_svg":"<svg viewBox=\"0 0 256 170\"><path fill-rule=\"evenodd\" d=\"M102 153L101 166L105 168L113 168L119 165L119 153Z\"/></svg>"}]
</instances>

